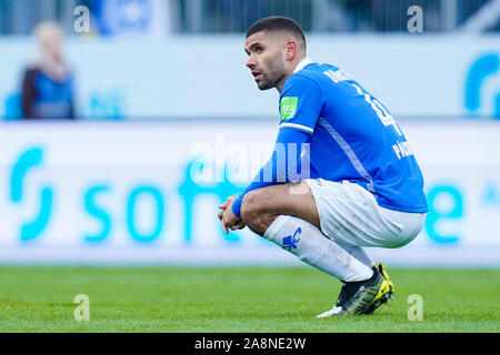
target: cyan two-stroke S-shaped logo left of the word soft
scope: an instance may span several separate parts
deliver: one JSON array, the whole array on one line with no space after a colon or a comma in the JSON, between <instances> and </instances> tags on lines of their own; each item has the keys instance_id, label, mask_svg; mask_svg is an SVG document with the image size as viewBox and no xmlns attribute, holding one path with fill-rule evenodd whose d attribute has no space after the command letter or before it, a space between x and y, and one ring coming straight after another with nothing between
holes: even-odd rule
<instances>
[{"instance_id":1,"label":"cyan two-stroke S-shaped logo left of the word soft","mask_svg":"<svg viewBox=\"0 0 500 355\"><path fill-rule=\"evenodd\" d=\"M24 180L28 171L40 165L42 162L42 150L40 148L32 148L23 152L16 161L12 168L10 179L10 200L19 204L23 199ZM30 241L39 236L50 220L52 211L52 189L44 186L41 190L40 209L38 215L21 227L21 241Z\"/></svg>"}]
</instances>

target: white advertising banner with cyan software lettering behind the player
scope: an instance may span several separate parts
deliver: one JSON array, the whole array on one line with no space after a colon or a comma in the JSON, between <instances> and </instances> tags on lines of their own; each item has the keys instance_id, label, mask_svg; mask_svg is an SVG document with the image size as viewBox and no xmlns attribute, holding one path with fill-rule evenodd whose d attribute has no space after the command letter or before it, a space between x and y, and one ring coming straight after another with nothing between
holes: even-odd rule
<instances>
[{"instance_id":1,"label":"white advertising banner with cyan software lettering behind the player","mask_svg":"<svg viewBox=\"0 0 500 355\"><path fill-rule=\"evenodd\" d=\"M401 265L500 265L500 123L400 122L429 214ZM298 264L218 205L268 158L269 121L0 124L0 264Z\"/></svg>"}]
</instances>

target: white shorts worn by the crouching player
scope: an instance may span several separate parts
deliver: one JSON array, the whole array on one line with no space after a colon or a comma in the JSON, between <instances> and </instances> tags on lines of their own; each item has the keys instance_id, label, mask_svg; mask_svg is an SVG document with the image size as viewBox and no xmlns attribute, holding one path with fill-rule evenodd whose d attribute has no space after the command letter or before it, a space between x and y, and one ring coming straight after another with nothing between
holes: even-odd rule
<instances>
[{"instance_id":1,"label":"white shorts worn by the crouching player","mask_svg":"<svg viewBox=\"0 0 500 355\"><path fill-rule=\"evenodd\" d=\"M371 192L349 181L308 179L321 231L339 245L400 247L422 230L427 213L388 210Z\"/></svg>"}]
</instances>

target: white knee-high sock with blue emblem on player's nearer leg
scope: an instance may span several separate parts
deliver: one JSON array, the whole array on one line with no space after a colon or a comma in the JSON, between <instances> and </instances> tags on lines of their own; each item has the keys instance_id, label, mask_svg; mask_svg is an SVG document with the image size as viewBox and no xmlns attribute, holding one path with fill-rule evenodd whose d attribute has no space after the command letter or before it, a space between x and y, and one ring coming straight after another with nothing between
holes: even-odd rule
<instances>
[{"instance_id":1,"label":"white knee-high sock with blue emblem on player's nearer leg","mask_svg":"<svg viewBox=\"0 0 500 355\"><path fill-rule=\"evenodd\" d=\"M353 257L307 221L280 215L266 231L264 237L304 263L341 281L362 281L373 275L371 267Z\"/></svg>"}]
</instances>

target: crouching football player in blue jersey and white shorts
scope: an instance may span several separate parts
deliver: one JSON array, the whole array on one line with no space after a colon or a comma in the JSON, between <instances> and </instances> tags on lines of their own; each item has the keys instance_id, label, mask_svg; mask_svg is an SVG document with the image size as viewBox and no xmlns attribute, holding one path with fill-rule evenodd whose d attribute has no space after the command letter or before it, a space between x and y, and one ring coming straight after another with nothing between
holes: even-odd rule
<instances>
[{"instance_id":1,"label":"crouching football player in blue jersey and white shorts","mask_svg":"<svg viewBox=\"0 0 500 355\"><path fill-rule=\"evenodd\" d=\"M281 121L269 162L243 193L219 206L222 227L248 226L342 281L337 303L318 317L371 314L394 286L362 247L403 246L426 220L423 178L407 140L358 82L307 59L292 20L257 21L244 50L259 89L280 92Z\"/></svg>"}]
</instances>

